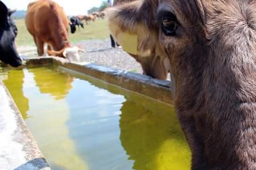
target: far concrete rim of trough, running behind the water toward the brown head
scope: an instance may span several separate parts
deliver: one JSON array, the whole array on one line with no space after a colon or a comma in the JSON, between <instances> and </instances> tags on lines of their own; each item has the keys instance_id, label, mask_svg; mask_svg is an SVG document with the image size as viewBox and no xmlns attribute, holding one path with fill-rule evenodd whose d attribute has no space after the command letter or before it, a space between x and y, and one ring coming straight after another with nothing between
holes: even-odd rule
<instances>
[{"instance_id":1,"label":"far concrete rim of trough, running behind the water toward the brown head","mask_svg":"<svg viewBox=\"0 0 256 170\"><path fill-rule=\"evenodd\" d=\"M60 57L28 58L27 65L55 64L82 74L93 76L107 83L125 88L138 94L151 97L167 104L174 104L172 98L172 83L167 80L158 80L147 75L131 73L119 69L101 66L96 63L75 63Z\"/></svg>"}]
</instances>

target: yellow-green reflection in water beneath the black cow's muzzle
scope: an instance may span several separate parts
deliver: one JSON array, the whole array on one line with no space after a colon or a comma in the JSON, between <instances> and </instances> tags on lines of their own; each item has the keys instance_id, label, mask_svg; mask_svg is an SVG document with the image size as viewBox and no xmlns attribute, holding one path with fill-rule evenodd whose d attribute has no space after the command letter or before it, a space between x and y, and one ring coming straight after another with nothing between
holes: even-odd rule
<instances>
[{"instance_id":1,"label":"yellow-green reflection in water beneath the black cow's muzzle","mask_svg":"<svg viewBox=\"0 0 256 170\"><path fill-rule=\"evenodd\" d=\"M3 80L5 86L10 91L11 96L15 101L15 104L22 113L23 118L27 118L28 111L28 99L23 94L23 81L24 73L23 70L10 70L7 71L7 79Z\"/></svg>"}]
</instances>

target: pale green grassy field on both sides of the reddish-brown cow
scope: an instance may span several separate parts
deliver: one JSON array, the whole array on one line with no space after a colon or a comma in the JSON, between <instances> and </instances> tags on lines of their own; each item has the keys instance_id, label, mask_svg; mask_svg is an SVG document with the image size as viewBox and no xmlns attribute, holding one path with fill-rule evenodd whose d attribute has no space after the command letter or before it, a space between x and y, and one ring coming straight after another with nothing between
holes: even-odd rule
<instances>
[{"instance_id":1,"label":"pale green grassy field on both sides of the reddish-brown cow","mask_svg":"<svg viewBox=\"0 0 256 170\"><path fill-rule=\"evenodd\" d=\"M35 45L34 40L30 33L28 33L24 19L15 20L18 27L18 37L16 38L17 44L20 45ZM69 32L69 41L76 43L82 40L100 39L104 40L109 37L108 26L106 20L98 19L88 25L84 24L85 28L80 27L80 31L72 34Z\"/></svg>"}]
</instances>

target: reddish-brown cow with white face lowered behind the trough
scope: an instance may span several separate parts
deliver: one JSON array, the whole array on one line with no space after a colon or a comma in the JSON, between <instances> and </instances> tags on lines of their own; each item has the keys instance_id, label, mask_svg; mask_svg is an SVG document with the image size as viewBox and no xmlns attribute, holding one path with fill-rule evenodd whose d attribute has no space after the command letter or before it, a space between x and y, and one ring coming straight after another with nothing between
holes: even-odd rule
<instances>
[{"instance_id":1,"label":"reddish-brown cow with white face lowered behind the trough","mask_svg":"<svg viewBox=\"0 0 256 170\"><path fill-rule=\"evenodd\" d=\"M79 48L71 47L68 41L69 20L63 8L51 0L39 0L30 3L27 9L26 26L34 37L38 55L43 56L44 44L48 44L47 53L51 56L77 58Z\"/></svg>"}]
</instances>

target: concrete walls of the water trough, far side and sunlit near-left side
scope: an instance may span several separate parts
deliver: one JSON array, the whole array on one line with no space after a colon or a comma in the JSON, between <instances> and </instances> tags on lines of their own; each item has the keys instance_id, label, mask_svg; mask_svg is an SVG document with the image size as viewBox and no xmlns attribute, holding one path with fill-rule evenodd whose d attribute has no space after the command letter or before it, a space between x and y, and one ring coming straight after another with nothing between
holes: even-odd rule
<instances>
[{"instance_id":1,"label":"concrete walls of the water trough, far side and sunlit near-left side","mask_svg":"<svg viewBox=\"0 0 256 170\"><path fill-rule=\"evenodd\" d=\"M107 83L137 92L167 104L172 100L172 84L150 76L100 66L94 63L72 63L59 57L27 60L27 66L57 65L86 74ZM1 65L0 68L6 65ZM0 80L0 169L48 170L49 165L28 130L18 108Z\"/></svg>"}]
</instances>

